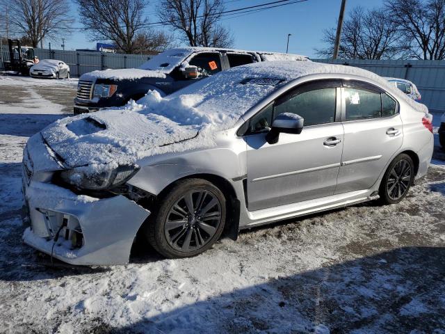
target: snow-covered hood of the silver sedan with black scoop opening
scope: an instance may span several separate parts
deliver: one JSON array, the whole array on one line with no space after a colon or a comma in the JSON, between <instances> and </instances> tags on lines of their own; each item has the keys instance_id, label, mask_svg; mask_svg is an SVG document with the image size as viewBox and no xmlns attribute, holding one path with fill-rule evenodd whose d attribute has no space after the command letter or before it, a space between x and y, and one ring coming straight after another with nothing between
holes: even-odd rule
<instances>
[{"instance_id":1,"label":"snow-covered hood of the silver sedan with black scoop opening","mask_svg":"<svg viewBox=\"0 0 445 334\"><path fill-rule=\"evenodd\" d=\"M64 118L44 129L42 136L65 166L76 167L131 164L145 150L197 135L194 127L133 109L131 106Z\"/></svg>"}]
</instances>

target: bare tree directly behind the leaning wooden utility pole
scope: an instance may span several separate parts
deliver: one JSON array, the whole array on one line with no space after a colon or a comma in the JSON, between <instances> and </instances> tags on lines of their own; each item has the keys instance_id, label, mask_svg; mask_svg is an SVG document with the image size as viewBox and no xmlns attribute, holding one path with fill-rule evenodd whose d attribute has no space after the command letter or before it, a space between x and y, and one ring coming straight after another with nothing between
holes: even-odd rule
<instances>
[{"instance_id":1,"label":"bare tree directly behind the leaning wooden utility pole","mask_svg":"<svg viewBox=\"0 0 445 334\"><path fill-rule=\"evenodd\" d=\"M324 31L325 49L318 49L319 56L330 57L334 49L335 29ZM343 24L339 58L385 59L403 57L398 45L396 24L383 9L364 10L355 7Z\"/></svg>"}]
</instances>

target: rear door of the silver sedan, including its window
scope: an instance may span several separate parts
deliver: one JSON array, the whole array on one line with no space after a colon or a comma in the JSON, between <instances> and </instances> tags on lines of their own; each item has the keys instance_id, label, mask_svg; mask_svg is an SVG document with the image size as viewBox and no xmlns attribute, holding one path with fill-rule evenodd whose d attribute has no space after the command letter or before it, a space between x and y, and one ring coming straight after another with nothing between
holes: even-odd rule
<instances>
[{"instance_id":1,"label":"rear door of the silver sedan, including its window","mask_svg":"<svg viewBox=\"0 0 445 334\"><path fill-rule=\"evenodd\" d=\"M335 193L369 189L403 143L396 100L363 81L342 89L343 157Z\"/></svg>"}]
</instances>

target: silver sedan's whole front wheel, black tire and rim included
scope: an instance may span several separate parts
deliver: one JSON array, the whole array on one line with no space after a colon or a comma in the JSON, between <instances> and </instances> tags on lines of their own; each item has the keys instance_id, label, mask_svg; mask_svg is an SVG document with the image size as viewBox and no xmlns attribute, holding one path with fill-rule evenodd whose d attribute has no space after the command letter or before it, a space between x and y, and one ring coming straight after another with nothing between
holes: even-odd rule
<instances>
[{"instance_id":1,"label":"silver sedan's whole front wheel, black tire and rim included","mask_svg":"<svg viewBox=\"0 0 445 334\"><path fill-rule=\"evenodd\" d=\"M191 200L195 210L192 214L186 198L189 203ZM168 258L193 257L204 253L220 238L224 230L227 205L224 194L211 182L202 179L179 181L158 202L158 207L145 226L145 237L161 255ZM213 202L216 204L211 206ZM204 212L204 209L207 211ZM177 227L172 228L176 225Z\"/></svg>"}]
</instances>

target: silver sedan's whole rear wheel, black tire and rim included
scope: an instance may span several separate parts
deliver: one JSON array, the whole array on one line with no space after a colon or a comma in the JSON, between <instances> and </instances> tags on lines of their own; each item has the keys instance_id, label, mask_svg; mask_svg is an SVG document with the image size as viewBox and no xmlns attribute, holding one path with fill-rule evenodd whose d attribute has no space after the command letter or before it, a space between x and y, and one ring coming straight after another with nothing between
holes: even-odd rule
<instances>
[{"instance_id":1,"label":"silver sedan's whole rear wheel, black tire and rim included","mask_svg":"<svg viewBox=\"0 0 445 334\"><path fill-rule=\"evenodd\" d=\"M382 204L396 204L405 198L414 181L414 162L402 153L391 161L380 183L379 195Z\"/></svg>"}]
</instances>

